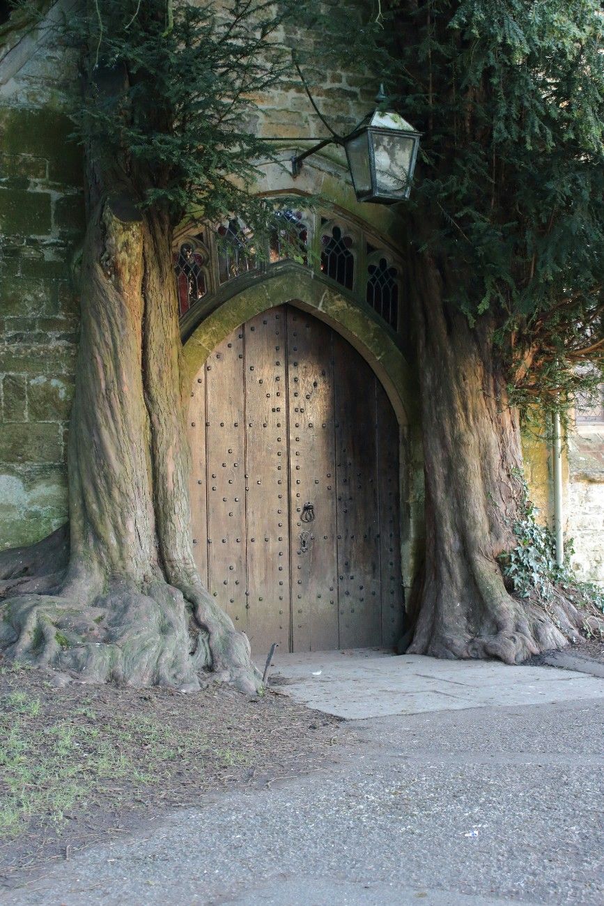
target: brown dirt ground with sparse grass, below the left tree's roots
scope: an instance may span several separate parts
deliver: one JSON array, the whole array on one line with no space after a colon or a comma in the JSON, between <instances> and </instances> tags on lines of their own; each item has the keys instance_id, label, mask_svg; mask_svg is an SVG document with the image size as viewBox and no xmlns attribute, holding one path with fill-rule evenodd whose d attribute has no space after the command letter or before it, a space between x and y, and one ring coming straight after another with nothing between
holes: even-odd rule
<instances>
[{"instance_id":1,"label":"brown dirt ground with sparse grass, below the left tree's roots","mask_svg":"<svg viewBox=\"0 0 604 906\"><path fill-rule=\"evenodd\" d=\"M343 735L337 718L271 691L57 689L0 659L0 890L143 815L311 771Z\"/></svg>"}]
</instances>

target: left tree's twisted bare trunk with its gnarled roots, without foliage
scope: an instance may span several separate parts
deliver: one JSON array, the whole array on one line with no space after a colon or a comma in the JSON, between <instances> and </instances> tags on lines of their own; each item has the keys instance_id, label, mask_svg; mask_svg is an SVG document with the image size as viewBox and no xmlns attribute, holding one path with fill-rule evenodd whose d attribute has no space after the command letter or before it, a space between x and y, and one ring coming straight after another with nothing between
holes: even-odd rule
<instances>
[{"instance_id":1,"label":"left tree's twisted bare trunk with its gnarled roots, without foliage","mask_svg":"<svg viewBox=\"0 0 604 906\"><path fill-rule=\"evenodd\" d=\"M196 689L213 670L253 694L249 642L206 592L191 549L168 218L140 213L128 192L95 195L69 435L69 561L64 533L3 554L0 649L90 681Z\"/></svg>"}]
</instances>

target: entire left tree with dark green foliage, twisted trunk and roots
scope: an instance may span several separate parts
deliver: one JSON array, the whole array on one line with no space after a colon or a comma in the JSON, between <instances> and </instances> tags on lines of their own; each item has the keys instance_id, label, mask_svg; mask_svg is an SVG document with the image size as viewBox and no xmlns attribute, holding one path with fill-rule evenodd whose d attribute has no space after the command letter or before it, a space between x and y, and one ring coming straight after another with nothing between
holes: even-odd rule
<instances>
[{"instance_id":1,"label":"entire left tree with dark green foliage, twisted trunk and roots","mask_svg":"<svg viewBox=\"0 0 604 906\"><path fill-rule=\"evenodd\" d=\"M262 0L87 0L65 25L81 49L87 214L69 537L0 554L9 657L89 681L196 689L213 670L259 688L191 549L172 236L196 209L270 220L247 191L267 151L245 117L282 75L287 14Z\"/></svg>"}]
</instances>

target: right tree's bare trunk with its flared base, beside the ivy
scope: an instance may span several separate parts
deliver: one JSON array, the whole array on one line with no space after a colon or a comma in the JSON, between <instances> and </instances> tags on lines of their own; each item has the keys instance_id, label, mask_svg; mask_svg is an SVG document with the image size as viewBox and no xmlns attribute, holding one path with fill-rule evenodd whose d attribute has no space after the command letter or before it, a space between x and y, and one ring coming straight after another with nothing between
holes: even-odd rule
<instances>
[{"instance_id":1,"label":"right tree's bare trunk with its flared base, beside the ivy","mask_svg":"<svg viewBox=\"0 0 604 906\"><path fill-rule=\"evenodd\" d=\"M426 563L409 653L508 663L578 636L562 597L546 610L518 600L497 560L518 541L522 449L508 401L494 315L471 326L446 262L416 255L409 292L417 342L426 478Z\"/></svg>"}]
</instances>

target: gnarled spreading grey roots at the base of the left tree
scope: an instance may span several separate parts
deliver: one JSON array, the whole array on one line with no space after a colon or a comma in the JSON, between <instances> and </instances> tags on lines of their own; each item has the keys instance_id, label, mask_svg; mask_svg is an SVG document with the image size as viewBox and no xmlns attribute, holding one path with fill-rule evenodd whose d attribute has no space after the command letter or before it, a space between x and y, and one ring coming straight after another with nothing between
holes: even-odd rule
<instances>
[{"instance_id":1,"label":"gnarled spreading grey roots at the base of the left tree","mask_svg":"<svg viewBox=\"0 0 604 906\"><path fill-rule=\"evenodd\" d=\"M261 676L243 633L197 593L199 619L183 593L163 579L143 590L110 583L81 602L69 593L24 593L0 603L5 657L71 674L84 682L168 686L195 691L208 679L254 695Z\"/></svg>"}]
</instances>

